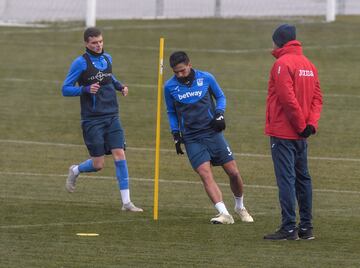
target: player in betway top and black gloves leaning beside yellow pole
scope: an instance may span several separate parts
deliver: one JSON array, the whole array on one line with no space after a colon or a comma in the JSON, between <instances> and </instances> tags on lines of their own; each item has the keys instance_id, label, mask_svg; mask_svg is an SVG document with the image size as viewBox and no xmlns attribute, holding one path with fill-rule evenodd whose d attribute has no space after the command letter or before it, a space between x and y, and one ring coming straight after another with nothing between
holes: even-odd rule
<instances>
[{"instance_id":1,"label":"player in betway top and black gloves leaning beside yellow pole","mask_svg":"<svg viewBox=\"0 0 360 268\"><path fill-rule=\"evenodd\" d=\"M184 143L193 169L200 175L206 193L219 212L210 222L234 223L214 180L211 165L222 166L229 176L235 212L242 221L253 222L243 203L240 172L222 133L225 129L224 92L210 73L193 69L183 51L170 56L170 66L175 75L166 82L164 94L176 153L184 154L181 149Z\"/></svg>"}]
</instances>

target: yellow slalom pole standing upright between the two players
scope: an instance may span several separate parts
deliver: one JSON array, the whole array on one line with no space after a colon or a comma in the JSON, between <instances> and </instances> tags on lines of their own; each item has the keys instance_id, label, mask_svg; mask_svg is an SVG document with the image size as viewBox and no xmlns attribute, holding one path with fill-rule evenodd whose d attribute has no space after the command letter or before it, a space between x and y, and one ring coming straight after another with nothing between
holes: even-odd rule
<instances>
[{"instance_id":1,"label":"yellow slalom pole standing upright between the two players","mask_svg":"<svg viewBox=\"0 0 360 268\"><path fill-rule=\"evenodd\" d=\"M159 71L158 71L158 99L156 112L156 148L155 148L155 179L154 179L154 220L158 219L159 211L159 169L160 169L160 119L164 70L164 38L160 38Z\"/></svg>"}]
</instances>

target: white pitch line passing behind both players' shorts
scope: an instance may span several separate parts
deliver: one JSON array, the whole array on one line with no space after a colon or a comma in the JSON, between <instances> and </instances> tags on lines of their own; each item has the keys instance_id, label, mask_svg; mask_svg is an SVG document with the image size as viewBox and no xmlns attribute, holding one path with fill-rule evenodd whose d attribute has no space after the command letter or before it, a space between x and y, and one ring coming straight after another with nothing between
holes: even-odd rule
<instances>
[{"instance_id":1,"label":"white pitch line passing behind both players' shorts","mask_svg":"<svg viewBox=\"0 0 360 268\"><path fill-rule=\"evenodd\" d=\"M85 145L80 144L66 144L66 143L55 143L55 142L40 142L40 141L24 141L24 140L3 140L0 139L0 143L15 143L15 144L32 144L32 145L44 145L44 146L59 146L59 147L75 147L85 148ZM142 147L126 147L130 151L148 151L154 152L153 148L142 148ZM172 149L161 149L161 152L173 153ZM234 153L236 156L241 157L256 157L256 158L270 158L268 154L252 154L252 153ZM322 156L310 156L308 159L311 160L324 160L324 161L345 161L345 162L360 162L360 158L343 158L343 157L322 157Z\"/></svg>"}]
</instances>

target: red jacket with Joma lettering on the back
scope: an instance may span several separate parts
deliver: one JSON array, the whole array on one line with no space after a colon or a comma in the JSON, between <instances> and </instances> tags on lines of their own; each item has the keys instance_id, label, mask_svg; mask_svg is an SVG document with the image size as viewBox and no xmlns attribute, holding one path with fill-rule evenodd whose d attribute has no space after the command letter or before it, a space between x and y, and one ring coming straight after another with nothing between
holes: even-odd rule
<instances>
[{"instance_id":1,"label":"red jacket with Joma lettering on the back","mask_svg":"<svg viewBox=\"0 0 360 268\"><path fill-rule=\"evenodd\" d=\"M303 55L301 43L290 41L272 51L266 100L265 134L283 139L299 136L307 124L318 128L322 94L315 66Z\"/></svg>"}]
</instances>

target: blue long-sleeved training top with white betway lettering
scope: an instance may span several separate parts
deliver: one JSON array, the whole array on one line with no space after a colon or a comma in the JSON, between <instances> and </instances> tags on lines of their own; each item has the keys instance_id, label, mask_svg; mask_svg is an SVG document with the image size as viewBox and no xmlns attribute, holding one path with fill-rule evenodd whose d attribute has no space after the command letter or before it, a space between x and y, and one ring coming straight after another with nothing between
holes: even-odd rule
<instances>
[{"instance_id":1,"label":"blue long-sleeved training top with white betway lettering","mask_svg":"<svg viewBox=\"0 0 360 268\"><path fill-rule=\"evenodd\" d=\"M215 133L211 121L216 113L224 113L226 107L226 97L215 77L194 71L191 85L180 83L174 75L164 87L171 132L181 132L185 141Z\"/></svg>"}]
</instances>

